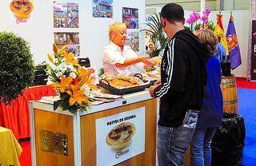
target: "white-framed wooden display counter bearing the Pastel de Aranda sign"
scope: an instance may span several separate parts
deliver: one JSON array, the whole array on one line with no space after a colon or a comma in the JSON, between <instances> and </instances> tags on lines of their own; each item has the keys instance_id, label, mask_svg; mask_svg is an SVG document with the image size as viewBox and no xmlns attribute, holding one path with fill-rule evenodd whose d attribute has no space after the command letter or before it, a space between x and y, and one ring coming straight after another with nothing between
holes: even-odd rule
<instances>
[{"instance_id":1,"label":"white-framed wooden display counter bearing the Pastel de Aranda sign","mask_svg":"<svg viewBox=\"0 0 256 166\"><path fill-rule=\"evenodd\" d=\"M54 111L50 101L30 101L33 165L155 165L157 108L148 90L77 114ZM135 126L122 149L106 141L120 124Z\"/></svg>"}]
</instances>

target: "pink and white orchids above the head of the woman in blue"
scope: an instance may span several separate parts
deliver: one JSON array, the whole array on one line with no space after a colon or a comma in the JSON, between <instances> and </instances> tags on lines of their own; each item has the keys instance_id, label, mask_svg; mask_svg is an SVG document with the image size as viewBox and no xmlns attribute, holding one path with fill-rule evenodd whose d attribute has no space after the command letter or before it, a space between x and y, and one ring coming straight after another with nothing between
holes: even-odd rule
<instances>
[{"instance_id":1,"label":"pink and white orchids above the head of the woman in blue","mask_svg":"<svg viewBox=\"0 0 256 166\"><path fill-rule=\"evenodd\" d=\"M203 11L202 16L196 12L190 14L190 18L186 20L186 23L190 25L190 30L202 30L204 28L210 28L211 30L214 30L214 22L209 22L208 20L209 14L209 9Z\"/></svg>"}]
</instances>

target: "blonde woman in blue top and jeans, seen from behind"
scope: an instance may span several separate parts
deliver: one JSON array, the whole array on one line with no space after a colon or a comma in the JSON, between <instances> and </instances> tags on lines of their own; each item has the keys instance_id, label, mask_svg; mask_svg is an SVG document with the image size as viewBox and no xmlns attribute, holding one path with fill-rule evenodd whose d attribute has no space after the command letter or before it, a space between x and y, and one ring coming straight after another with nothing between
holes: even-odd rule
<instances>
[{"instance_id":1,"label":"blonde woman in blue top and jeans, seen from behind","mask_svg":"<svg viewBox=\"0 0 256 166\"><path fill-rule=\"evenodd\" d=\"M212 30L198 30L194 33L212 53L206 64L207 84L204 87L202 109L197 126L190 142L190 164L192 166L210 166L210 143L218 125L222 124L223 101L220 88L222 75L218 57L214 56L218 38Z\"/></svg>"}]
</instances>

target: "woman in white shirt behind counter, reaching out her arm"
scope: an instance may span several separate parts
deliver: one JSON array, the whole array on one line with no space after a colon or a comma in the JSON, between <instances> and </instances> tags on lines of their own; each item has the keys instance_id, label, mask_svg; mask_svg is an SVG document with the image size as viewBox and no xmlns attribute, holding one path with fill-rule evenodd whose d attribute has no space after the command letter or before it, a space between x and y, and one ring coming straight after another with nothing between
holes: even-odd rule
<instances>
[{"instance_id":1,"label":"woman in white shirt behind counter, reaching out her arm","mask_svg":"<svg viewBox=\"0 0 256 166\"><path fill-rule=\"evenodd\" d=\"M108 75L130 75L131 65L138 69L146 69L154 65L147 58L138 57L134 50L126 46L126 25L122 22L114 22L109 28L110 43L103 48L103 70Z\"/></svg>"}]
</instances>

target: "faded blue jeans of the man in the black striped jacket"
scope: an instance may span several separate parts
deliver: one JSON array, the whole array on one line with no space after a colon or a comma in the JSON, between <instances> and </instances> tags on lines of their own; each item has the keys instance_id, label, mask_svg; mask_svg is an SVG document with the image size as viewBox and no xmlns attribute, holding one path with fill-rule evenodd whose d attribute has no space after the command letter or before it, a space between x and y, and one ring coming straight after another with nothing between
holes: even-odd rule
<instances>
[{"instance_id":1,"label":"faded blue jeans of the man in the black striped jacket","mask_svg":"<svg viewBox=\"0 0 256 166\"><path fill-rule=\"evenodd\" d=\"M192 139L198 113L188 113L182 126L169 128L158 125L158 166L182 166L186 148Z\"/></svg>"}]
</instances>

